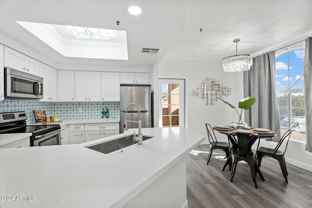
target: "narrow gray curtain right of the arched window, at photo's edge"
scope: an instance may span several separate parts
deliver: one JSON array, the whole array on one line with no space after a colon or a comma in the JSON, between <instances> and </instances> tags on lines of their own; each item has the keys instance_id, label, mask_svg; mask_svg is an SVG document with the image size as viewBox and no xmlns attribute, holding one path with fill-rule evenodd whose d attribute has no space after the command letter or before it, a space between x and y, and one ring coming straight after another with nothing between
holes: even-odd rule
<instances>
[{"instance_id":1,"label":"narrow gray curtain right of the arched window, at photo's edge","mask_svg":"<svg viewBox=\"0 0 312 208\"><path fill-rule=\"evenodd\" d=\"M303 77L306 113L306 151L312 152L312 37L306 39Z\"/></svg>"}]
</instances>

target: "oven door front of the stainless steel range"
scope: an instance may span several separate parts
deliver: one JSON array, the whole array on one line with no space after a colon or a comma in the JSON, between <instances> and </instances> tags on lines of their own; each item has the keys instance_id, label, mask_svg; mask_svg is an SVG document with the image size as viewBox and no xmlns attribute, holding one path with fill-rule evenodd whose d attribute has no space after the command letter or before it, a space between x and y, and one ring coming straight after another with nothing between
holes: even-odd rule
<instances>
[{"instance_id":1,"label":"oven door front of the stainless steel range","mask_svg":"<svg viewBox=\"0 0 312 208\"><path fill-rule=\"evenodd\" d=\"M33 135L31 138L31 146L49 146L49 145L60 145L60 130L53 132L47 132L40 135Z\"/></svg>"}]
</instances>

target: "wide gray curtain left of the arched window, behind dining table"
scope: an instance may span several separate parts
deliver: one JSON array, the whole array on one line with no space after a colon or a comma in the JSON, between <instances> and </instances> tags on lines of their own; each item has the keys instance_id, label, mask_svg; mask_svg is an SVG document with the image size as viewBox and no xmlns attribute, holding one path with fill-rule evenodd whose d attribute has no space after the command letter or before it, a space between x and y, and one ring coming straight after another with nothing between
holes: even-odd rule
<instances>
[{"instance_id":1,"label":"wide gray curtain left of the arched window, behind dining table","mask_svg":"<svg viewBox=\"0 0 312 208\"><path fill-rule=\"evenodd\" d=\"M270 129L276 136L266 140L279 141L280 126L275 87L275 51L253 58L253 65L244 74L244 97L257 101L245 111L245 121L252 127Z\"/></svg>"}]
</instances>

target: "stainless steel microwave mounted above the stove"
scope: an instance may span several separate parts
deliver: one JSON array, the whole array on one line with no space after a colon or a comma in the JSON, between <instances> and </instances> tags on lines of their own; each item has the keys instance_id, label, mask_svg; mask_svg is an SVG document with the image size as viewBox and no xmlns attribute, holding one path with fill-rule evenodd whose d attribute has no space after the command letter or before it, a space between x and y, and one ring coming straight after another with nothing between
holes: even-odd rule
<instances>
[{"instance_id":1,"label":"stainless steel microwave mounted above the stove","mask_svg":"<svg viewBox=\"0 0 312 208\"><path fill-rule=\"evenodd\" d=\"M41 99L43 78L12 68L4 68L4 97Z\"/></svg>"}]
</instances>

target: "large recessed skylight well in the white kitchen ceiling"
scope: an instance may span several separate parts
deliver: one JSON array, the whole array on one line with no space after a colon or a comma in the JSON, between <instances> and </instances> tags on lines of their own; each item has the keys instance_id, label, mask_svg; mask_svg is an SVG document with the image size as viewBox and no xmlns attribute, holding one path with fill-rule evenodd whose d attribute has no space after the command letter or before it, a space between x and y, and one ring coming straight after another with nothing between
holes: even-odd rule
<instances>
[{"instance_id":1,"label":"large recessed skylight well in the white kitchen ceiling","mask_svg":"<svg viewBox=\"0 0 312 208\"><path fill-rule=\"evenodd\" d=\"M25 21L17 23L64 57L128 60L126 31Z\"/></svg>"}]
</instances>

